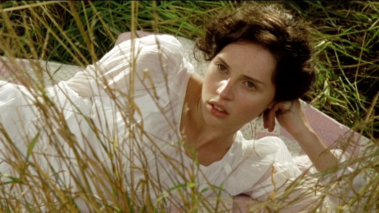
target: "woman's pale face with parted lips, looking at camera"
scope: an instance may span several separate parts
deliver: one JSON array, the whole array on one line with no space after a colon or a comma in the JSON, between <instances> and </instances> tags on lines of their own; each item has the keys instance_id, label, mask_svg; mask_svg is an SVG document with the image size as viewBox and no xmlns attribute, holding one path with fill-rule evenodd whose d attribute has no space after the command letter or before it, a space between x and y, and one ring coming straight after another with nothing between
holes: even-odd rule
<instances>
[{"instance_id":1,"label":"woman's pale face with parted lips, looking at camera","mask_svg":"<svg viewBox=\"0 0 379 213\"><path fill-rule=\"evenodd\" d=\"M215 128L238 130L274 105L274 56L260 45L236 42L210 62L203 83L202 113Z\"/></svg>"}]
</instances>

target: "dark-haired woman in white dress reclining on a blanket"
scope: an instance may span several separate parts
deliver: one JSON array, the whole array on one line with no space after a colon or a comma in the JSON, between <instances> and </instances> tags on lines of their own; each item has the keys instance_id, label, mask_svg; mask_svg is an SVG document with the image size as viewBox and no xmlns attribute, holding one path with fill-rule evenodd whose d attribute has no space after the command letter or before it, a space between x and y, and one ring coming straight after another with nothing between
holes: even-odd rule
<instances>
[{"instance_id":1,"label":"dark-haired woman in white dress reclining on a blanket","mask_svg":"<svg viewBox=\"0 0 379 213\"><path fill-rule=\"evenodd\" d=\"M6 202L40 203L43 188L52 191L46 199L82 210L186 209L212 194L279 197L301 175L286 146L274 137L246 141L238 131L262 114L265 127L272 131L276 118L319 171L338 163L298 100L314 79L300 20L277 5L245 4L213 19L197 47L210 61L204 79L175 38L150 35L117 45L53 88L1 82L1 182L35 183L2 184ZM311 191L297 192L308 201L292 211L312 202Z\"/></svg>"}]
</instances>

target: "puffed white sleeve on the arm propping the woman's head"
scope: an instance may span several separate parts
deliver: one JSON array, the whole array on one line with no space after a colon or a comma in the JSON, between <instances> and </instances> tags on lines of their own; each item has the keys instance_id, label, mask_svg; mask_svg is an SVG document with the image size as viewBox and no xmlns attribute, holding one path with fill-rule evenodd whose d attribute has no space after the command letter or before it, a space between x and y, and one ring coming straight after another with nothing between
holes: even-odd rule
<instances>
[{"instance_id":1,"label":"puffed white sleeve on the arm propping the woman's head","mask_svg":"<svg viewBox=\"0 0 379 213\"><path fill-rule=\"evenodd\" d=\"M230 184L240 183L230 187L233 195L244 193L258 199L274 190L272 171L277 185L300 174L287 147L279 138L244 141L241 146L243 151L237 153L240 156L238 160L233 160L232 167L236 169L229 178Z\"/></svg>"}]
</instances>

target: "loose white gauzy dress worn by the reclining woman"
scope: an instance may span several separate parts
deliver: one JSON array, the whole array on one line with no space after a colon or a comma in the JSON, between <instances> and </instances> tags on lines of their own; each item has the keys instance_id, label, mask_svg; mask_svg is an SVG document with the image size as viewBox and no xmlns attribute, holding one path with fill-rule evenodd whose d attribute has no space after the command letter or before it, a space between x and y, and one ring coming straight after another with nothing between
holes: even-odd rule
<instances>
[{"instance_id":1,"label":"loose white gauzy dress worn by the reclining woman","mask_svg":"<svg viewBox=\"0 0 379 213\"><path fill-rule=\"evenodd\" d=\"M133 196L136 208L152 200L159 209L180 208L191 193L243 193L263 202L278 196L301 175L278 138L246 141L238 132L224 158L209 166L184 153L179 124L194 70L181 48L172 36L150 35L119 44L52 88L0 82L0 181L35 183L0 187L37 203L37 186L69 189L81 209L93 197L112 205ZM48 181L38 183L41 174Z\"/></svg>"}]
</instances>

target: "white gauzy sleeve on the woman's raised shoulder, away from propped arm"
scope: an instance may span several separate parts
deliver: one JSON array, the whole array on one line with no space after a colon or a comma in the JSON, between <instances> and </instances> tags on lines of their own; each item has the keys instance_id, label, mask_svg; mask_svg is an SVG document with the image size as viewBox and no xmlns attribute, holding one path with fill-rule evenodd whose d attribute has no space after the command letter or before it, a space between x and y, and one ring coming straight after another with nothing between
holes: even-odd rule
<instances>
[{"instance_id":1,"label":"white gauzy sleeve on the woman's raised shoulder, away from propped arm","mask_svg":"<svg viewBox=\"0 0 379 213\"><path fill-rule=\"evenodd\" d=\"M178 71L183 53L180 42L170 35L149 35L127 40L106 53L100 61L87 66L67 82L82 97L117 91L135 96L146 89L154 94L166 85L170 72ZM133 83L132 83L133 82Z\"/></svg>"}]
</instances>

